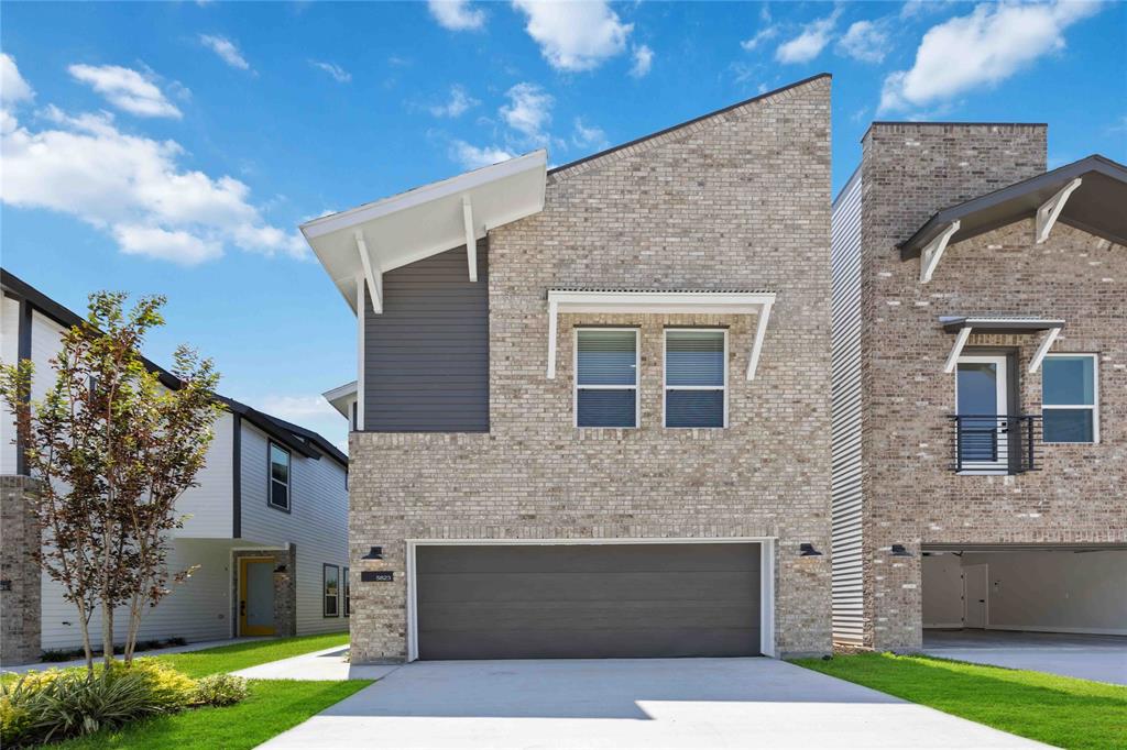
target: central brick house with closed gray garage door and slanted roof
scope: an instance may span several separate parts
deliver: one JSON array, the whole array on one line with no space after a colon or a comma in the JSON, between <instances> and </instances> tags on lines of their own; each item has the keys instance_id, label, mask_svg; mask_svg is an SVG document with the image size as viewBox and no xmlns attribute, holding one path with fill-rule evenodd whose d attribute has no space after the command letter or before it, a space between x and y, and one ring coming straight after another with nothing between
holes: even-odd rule
<instances>
[{"instance_id":1,"label":"central brick house with closed gray garage door and slanted roof","mask_svg":"<svg viewBox=\"0 0 1127 750\"><path fill-rule=\"evenodd\" d=\"M829 651L828 75L302 231L355 661Z\"/></svg>"}]
</instances>

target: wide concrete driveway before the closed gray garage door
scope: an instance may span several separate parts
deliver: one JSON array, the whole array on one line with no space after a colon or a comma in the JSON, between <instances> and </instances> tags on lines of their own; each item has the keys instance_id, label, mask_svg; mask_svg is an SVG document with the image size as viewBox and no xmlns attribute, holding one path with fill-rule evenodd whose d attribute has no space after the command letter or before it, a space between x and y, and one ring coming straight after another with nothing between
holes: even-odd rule
<instances>
[{"instance_id":1,"label":"wide concrete driveway before the closed gray garage door","mask_svg":"<svg viewBox=\"0 0 1127 750\"><path fill-rule=\"evenodd\" d=\"M416 662L264 748L1044 747L771 659Z\"/></svg>"}]
</instances>

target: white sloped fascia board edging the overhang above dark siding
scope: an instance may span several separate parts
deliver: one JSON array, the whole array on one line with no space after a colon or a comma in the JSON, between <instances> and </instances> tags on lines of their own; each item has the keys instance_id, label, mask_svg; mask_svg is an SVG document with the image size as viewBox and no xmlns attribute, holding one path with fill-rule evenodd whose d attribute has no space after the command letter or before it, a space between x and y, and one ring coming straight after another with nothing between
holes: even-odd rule
<instances>
[{"instance_id":1,"label":"white sloped fascia board edging the overhang above dark siding","mask_svg":"<svg viewBox=\"0 0 1127 750\"><path fill-rule=\"evenodd\" d=\"M459 193L465 193L481 185L504 179L506 177L512 177L513 175L520 175L521 172L534 169L547 170L547 167L548 152L540 149L539 151L526 153L523 157L516 157L515 159L503 161L499 164L482 167L481 169L476 169L472 172L465 172L438 182L424 185L423 187L408 190L407 193L400 193L399 195L393 195L389 198L383 198L382 200L364 204L363 206L349 208L348 211L341 211L338 214L321 216L320 218L305 222L300 229L307 239L313 240L341 229L348 229L357 224L380 218L381 216L403 211L405 208L412 208L415 206L429 203L431 200L437 200L440 198L458 195Z\"/></svg>"}]
</instances>

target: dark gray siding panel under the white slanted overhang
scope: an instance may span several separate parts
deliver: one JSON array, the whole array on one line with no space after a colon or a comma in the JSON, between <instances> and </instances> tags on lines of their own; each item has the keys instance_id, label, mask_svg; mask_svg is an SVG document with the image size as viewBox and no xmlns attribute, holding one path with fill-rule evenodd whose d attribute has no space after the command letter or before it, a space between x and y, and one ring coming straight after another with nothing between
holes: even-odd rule
<instances>
[{"instance_id":1,"label":"dark gray siding panel under the white slanted overhang","mask_svg":"<svg viewBox=\"0 0 1127 750\"><path fill-rule=\"evenodd\" d=\"M364 430L489 431L488 242L478 280L465 247L383 275L383 313L364 319Z\"/></svg>"}]
</instances>

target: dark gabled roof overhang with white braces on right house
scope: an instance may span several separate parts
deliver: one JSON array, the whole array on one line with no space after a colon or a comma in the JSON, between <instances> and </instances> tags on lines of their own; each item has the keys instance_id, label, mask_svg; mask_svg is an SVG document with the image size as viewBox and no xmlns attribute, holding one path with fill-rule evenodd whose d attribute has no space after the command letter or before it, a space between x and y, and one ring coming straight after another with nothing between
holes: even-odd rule
<instances>
[{"instance_id":1,"label":"dark gabled roof overhang with white braces on right house","mask_svg":"<svg viewBox=\"0 0 1127 750\"><path fill-rule=\"evenodd\" d=\"M948 244L1036 217L1033 241L1061 222L1127 245L1127 167L1092 155L1000 190L944 208L900 244L900 259L923 256L926 283ZM924 273L928 270L929 273Z\"/></svg>"}]
</instances>

